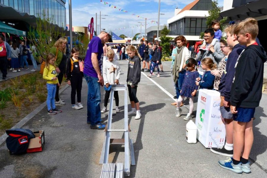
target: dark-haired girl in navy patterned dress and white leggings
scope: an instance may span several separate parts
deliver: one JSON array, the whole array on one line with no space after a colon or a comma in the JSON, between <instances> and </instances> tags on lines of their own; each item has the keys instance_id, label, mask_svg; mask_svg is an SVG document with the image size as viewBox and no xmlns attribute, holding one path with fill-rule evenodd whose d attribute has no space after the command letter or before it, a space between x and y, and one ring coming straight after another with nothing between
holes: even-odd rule
<instances>
[{"instance_id":1,"label":"dark-haired girl in navy patterned dress and white leggings","mask_svg":"<svg viewBox=\"0 0 267 178\"><path fill-rule=\"evenodd\" d=\"M189 113L186 115L184 120L192 119L192 113L194 109L194 96L196 95L196 91L198 90L198 86L196 85L196 78L198 78L198 71L196 71L197 61L194 58L189 58L187 63L188 70L185 73L185 79L182 84L182 90L180 92L180 96L177 100L176 105L176 117L181 116L182 109L180 108L181 102L185 97L189 98Z\"/></svg>"}]
</instances>

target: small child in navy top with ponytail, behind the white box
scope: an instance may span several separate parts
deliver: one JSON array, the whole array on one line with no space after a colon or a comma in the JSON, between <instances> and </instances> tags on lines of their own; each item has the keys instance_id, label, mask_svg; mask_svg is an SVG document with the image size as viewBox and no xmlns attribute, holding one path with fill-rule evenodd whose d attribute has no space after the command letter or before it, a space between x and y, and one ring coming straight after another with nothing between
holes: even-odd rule
<instances>
[{"instance_id":1,"label":"small child in navy top with ponytail, behind the white box","mask_svg":"<svg viewBox=\"0 0 267 178\"><path fill-rule=\"evenodd\" d=\"M201 61L202 69L206 70L202 76L202 78L198 77L196 79L196 85L200 86L200 89L213 89L213 83L215 80L215 76L212 75L211 71L216 69L216 64L212 61L211 58L204 58Z\"/></svg>"}]
</instances>

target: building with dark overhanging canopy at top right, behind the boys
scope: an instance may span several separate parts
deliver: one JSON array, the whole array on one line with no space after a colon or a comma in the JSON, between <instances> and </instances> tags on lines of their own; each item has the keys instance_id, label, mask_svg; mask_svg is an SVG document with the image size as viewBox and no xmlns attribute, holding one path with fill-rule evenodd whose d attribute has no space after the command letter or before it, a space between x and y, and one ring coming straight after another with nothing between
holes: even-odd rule
<instances>
[{"instance_id":1,"label":"building with dark overhanging canopy at top right, behind the boys","mask_svg":"<svg viewBox=\"0 0 267 178\"><path fill-rule=\"evenodd\" d=\"M240 21L252 17L258 20L260 44L267 49L266 23L267 23L267 0L224 0L221 18L227 16L229 21Z\"/></svg>"}]
</instances>

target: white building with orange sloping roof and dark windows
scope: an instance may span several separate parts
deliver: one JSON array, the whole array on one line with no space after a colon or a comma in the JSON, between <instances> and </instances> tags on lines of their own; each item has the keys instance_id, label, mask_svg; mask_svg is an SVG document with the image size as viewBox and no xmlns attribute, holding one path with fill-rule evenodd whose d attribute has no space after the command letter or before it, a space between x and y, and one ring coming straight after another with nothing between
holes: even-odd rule
<instances>
[{"instance_id":1,"label":"white building with orange sloping roof and dark windows","mask_svg":"<svg viewBox=\"0 0 267 178\"><path fill-rule=\"evenodd\" d=\"M212 0L195 0L183 9L174 11L174 16L167 20L170 33L168 36L175 38L183 35L190 42L199 39L200 33L207 28L206 17L209 9L212 8Z\"/></svg>"}]
</instances>

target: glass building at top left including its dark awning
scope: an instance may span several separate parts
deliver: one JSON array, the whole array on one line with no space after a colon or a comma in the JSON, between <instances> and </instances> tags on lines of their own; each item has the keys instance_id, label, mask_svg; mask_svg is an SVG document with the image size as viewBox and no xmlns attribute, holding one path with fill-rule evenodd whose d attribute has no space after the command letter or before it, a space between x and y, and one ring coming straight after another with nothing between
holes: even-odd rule
<instances>
[{"instance_id":1,"label":"glass building at top left including its dark awning","mask_svg":"<svg viewBox=\"0 0 267 178\"><path fill-rule=\"evenodd\" d=\"M30 24L35 18L44 18L45 14L53 24L66 28L65 4L66 0L0 0L0 20Z\"/></svg>"}]
</instances>

